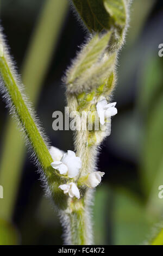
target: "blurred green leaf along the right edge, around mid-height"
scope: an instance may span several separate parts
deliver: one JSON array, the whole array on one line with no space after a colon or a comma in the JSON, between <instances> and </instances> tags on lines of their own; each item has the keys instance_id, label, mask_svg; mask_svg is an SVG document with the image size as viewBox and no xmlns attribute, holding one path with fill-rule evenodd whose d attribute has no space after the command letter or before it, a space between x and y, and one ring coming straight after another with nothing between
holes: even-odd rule
<instances>
[{"instance_id":1,"label":"blurred green leaf along the right edge, around mid-height","mask_svg":"<svg viewBox=\"0 0 163 256\"><path fill-rule=\"evenodd\" d=\"M143 170L143 188L146 190L150 200L149 209L152 212L160 208L162 209L162 202L158 198L158 187L162 185L163 180L163 95L157 100L156 105L153 106L150 112L150 118L146 130L146 137L144 142L144 149L142 155L142 166ZM156 205L157 208L156 208ZM160 206L159 206L160 205Z\"/></svg>"}]
</instances>

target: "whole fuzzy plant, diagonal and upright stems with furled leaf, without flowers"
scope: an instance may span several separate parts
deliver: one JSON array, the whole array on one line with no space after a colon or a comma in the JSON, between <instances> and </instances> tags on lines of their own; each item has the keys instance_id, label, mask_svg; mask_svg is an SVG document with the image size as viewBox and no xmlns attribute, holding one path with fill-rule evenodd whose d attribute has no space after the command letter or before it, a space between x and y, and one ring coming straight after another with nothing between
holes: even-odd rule
<instances>
[{"instance_id":1,"label":"whole fuzzy plant, diagonal and upright stems with furled leaf, without flowers","mask_svg":"<svg viewBox=\"0 0 163 256\"><path fill-rule=\"evenodd\" d=\"M73 2L79 13L82 7L84 10L81 12L82 15L84 14L82 19L90 31L96 33L92 33L91 40L83 47L72 67L67 71L65 78L67 101L71 110L78 111L80 114L85 111L88 114L95 111L97 103L102 97L109 101L115 87L117 54L123 43L127 27L127 0L99 0L96 3L89 0L82 1L83 6L81 1L74 0ZM117 3L116 8L114 2ZM88 4L89 8L87 8ZM93 13L92 11L86 13L87 10L93 10ZM100 23L96 22L98 20ZM0 43L4 46L4 54L0 57L2 93L11 113L17 117L32 145L36 160L43 170L42 176L48 192L55 205L61 210L62 225L66 229L65 242L74 245L91 245L93 243L91 224L93 190L81 182L79 185L80 199L74 199L74 197L65 196L59 188L60 184L70 182L70 179L64 178L52 169L53 159L49 153L47 142L42 136L27 99L21 92L21 82L9 57L2 33L0 34ZM93 116L91 119L94 119ZM87 127L86 119L81 118L80 123L82 126L86 125L86 130L82 129L76 132L75 136L76 154L82 159L81 172L73 180L77 185L79 180L84 179L84 176L95 171L97 148L108 135L101 129L90 130Z\"/></svg>"}]
</instances>

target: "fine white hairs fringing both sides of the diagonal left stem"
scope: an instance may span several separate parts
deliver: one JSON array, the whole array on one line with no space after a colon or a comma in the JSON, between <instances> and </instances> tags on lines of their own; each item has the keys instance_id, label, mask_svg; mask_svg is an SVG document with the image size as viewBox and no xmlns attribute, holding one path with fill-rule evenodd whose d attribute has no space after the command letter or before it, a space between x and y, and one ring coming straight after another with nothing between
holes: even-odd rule
<instances>
[{"instance_id":1,"label":"fine white hairs fringing both sides of the diagonal left stem","mask_svg":"<svg viewBox=\"0 0 163 256\"><path fill-rule=\"evenodd\" d=\"M32 103L29 101L27 95L24 92L25 88L21 82L21 76L18 75L16 63L14 62L13 58L10 56L9 47L7 44L7 40L5 39L5 36L3 35L2 27L0 27L0 43L3 45L3 56L5 57L5 60L8 63L9 70L10 70L12 76L14 77L14 81L16 82L17 88L21 93L22 99L23 99L24 103L26 104L32 119L34 120L34 123L36 124L37 130L39 131L41 137L43 138L43 142L46 144L46 147L49 149L49 139L47 138L47 136L45 136L45 132L43 131L40 120L37 117L37 115L34 111L34 108L32 107ZM32 161L34 162L34 164L37 168L37 171L40 173L40 180L43 184L43 189L45 190L46 194L48 194L48 196L50 196L51 192L50 192L50 188L48 186L45 172L43 172L43 169L42 169L42 164L37 159L37 155L34 151L33 145L31 144L32 142L30 141L26 127L24 127L24 125L21 122L20 117L18 116L17 109L16 109L14 103L12 102L11 95L9 94L7 87L5 87L2 76L0 78L0 93L2 94L3 100L5 101L7 108L9 109L9 114L15 120L15 123L17 124L18 129L22 132L21 135L23 136L24 142L26 143L26 147L30 153L30 157L31 157Z\"/></svg>"}]
</instances>

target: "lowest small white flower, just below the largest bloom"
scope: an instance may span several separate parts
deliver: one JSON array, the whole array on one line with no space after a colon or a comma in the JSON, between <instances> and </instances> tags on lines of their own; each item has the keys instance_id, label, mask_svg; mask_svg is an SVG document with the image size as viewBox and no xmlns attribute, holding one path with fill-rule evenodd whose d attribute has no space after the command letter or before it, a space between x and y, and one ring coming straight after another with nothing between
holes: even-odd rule
<instances>
[{"instance_id":1,"label":"lowest small white flower, just below the largest bloom","mask_svg":"<svg viewBox=\"0 0 163 256\"><path fill-rule=\"evenodd\" d=\"M80 198L80 192L78 190L78 187L73 182L64 184L64 185L60 185L59 188L64 191L64 194L68 193L68 195L71 198L72 197L76 197L78 199Z\"/></svg>"}]
</instances>

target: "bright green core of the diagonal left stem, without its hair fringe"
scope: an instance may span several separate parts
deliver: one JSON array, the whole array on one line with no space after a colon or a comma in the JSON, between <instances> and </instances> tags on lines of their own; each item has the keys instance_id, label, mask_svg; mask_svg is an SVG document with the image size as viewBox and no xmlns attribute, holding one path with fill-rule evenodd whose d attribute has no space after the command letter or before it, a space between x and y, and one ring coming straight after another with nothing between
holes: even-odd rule
<instances>
[{"instance_id":1,"label":"bright green core of the diagonal left stem, without its hair fringe","mask_svg":"<svg viewBox=\"0 0 163 256\"><path fill-rule=\"evenodd\" d=\"M47 170L53 161L52 157L49 154L45 141L43 140L38 127L29 113L28 107L17 87L15 78L10 71L7 59L5 57L1 57L0 72L2 80L4 81L4 86L7 88L7 92L11 99L11 103L15 107L17 117L25 129L26 135L34 148L39 162L42 164L45 174L49 175Z\"/></svg>"}]
</instances>

